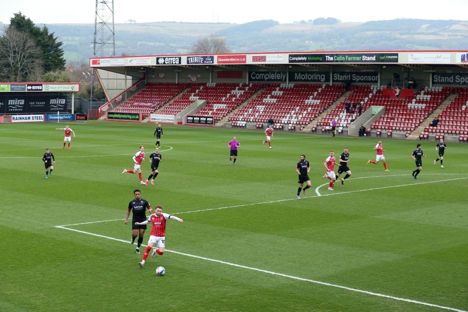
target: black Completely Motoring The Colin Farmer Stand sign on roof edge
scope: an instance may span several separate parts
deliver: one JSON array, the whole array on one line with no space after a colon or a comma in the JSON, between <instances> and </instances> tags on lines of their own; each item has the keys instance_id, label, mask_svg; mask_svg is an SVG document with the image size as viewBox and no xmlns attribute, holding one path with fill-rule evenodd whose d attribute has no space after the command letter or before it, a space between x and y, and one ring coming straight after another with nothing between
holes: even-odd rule
<instances>
[{"instance_id":1,"label":"black Completely Motoring The Colin Farmer Stand sign on roof edge","mask_svg":"<svg viewBox=\"0 0 468 312\"><path fill-rule=\"evenodd\" d=\"M398 53L290 54L290 63L397 63Z\"/></svg>"}]
</instances>

